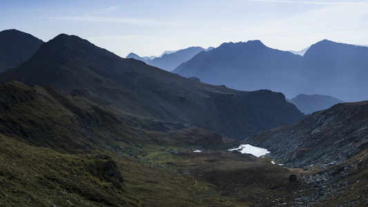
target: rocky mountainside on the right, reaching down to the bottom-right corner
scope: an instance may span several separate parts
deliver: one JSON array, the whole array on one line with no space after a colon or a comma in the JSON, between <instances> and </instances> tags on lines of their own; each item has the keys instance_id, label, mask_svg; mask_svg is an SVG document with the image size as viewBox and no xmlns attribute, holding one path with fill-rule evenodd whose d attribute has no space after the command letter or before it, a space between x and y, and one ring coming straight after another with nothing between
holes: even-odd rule
<instances>
[{"instance_id":1,"label":"rocky mountainside on the right, reaching down to the bottom-right corner","mask_svg":"<svg viewBox=\"0 0 368 207\"><path fill-rule=\"evenodd\" d=\"M367 117L368 101L338 103L244 141L267 148L278 164L303 169L300 176L311 188L294 198L298 204L367 206Z\"/></svg>"}]
</instances>

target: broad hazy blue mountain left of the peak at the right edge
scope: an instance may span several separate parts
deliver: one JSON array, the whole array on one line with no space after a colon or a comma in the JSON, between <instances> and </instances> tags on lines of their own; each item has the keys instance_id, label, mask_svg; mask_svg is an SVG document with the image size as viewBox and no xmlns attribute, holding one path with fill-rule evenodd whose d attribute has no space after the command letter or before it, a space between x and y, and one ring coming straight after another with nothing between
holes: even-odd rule
<instances>
[{"instance_id":1,"label":"broad hazy blue mountain left of the peak at the right edge","mask_svg":"<svg viewBox=\"0 0 368 207\"><path fill-rule=\"evenodd\" d=\"M201 52L173 70L204 83L225 85L237 90L269 89L293 92L302 57L264 46L261 41L223 43Z\"/></svg>"}]
</instances>

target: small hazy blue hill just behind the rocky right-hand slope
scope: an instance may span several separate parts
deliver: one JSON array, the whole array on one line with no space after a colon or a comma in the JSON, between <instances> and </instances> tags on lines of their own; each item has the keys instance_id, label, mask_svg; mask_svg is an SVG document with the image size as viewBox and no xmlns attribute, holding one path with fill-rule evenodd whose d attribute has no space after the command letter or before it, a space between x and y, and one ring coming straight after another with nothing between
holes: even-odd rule
<instances>
[{"instance_id":1,"label":"small hazy blue hill just behind the rocky right-hand slope","mask_svg":"<svg viewBox=\"0 0 368 207\"><path fill-rule=\"evenodd\" d=\"M309 115L318 110L325 110L336 103L344 103L340 99L326 95L304 95L300 94L289 101L293 103L305 115Z\"/></svg>"}]
</instances>

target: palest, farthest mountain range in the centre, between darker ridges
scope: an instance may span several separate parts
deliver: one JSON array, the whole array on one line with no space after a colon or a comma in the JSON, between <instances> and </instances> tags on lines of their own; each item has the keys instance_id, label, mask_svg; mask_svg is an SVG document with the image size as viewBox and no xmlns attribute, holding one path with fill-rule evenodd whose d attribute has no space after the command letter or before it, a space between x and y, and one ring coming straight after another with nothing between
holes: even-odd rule
<instances>
[{"instance_id":1,"label":"palest, farthest mountain range in the centre, between darker ridges","mask_svg":"<svg viewBox=\"0 0 368 207\"><path fill-rule=\"evenodd\" d=\"M126 58L137 59L139 61L144 61L150 66L155 66L163 70L172 71L181 63L188 61L198 53L212 49L213 48L204 49L201 47L191 47L176 51L165 51L164 53L162 53L162 55L160 55L159 57L155 57L153 59L147 57L146 58L139 57L138 55L132 52L128 56L126 56Z\"/></svg>"}]
</instances>

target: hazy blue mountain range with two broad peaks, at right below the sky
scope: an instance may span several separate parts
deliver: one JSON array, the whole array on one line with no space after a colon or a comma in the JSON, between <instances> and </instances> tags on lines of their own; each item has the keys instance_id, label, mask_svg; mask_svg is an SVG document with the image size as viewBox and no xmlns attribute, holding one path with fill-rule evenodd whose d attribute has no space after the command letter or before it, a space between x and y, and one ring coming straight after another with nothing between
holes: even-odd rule
<instances>
[{"instance_id":1,"label":"hazy blue mountain range with two broad peaks, at right below the sky","mask_svg":"<svg viewBox=\"0 0 368 207\"><path fill-rule=\"evenodd\" d=\"M201 52L173 72L237 90L267 88L287 97L304 93L360 101L368 99L367 57L367 47L328 40L314 44L303 56L248 41Z\"/></svg>"}]
</instances>

